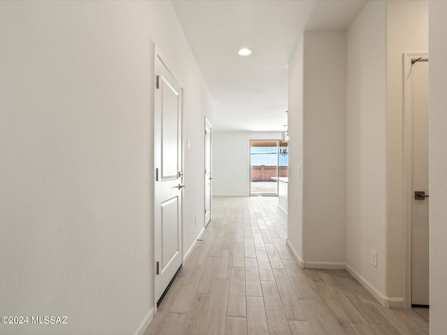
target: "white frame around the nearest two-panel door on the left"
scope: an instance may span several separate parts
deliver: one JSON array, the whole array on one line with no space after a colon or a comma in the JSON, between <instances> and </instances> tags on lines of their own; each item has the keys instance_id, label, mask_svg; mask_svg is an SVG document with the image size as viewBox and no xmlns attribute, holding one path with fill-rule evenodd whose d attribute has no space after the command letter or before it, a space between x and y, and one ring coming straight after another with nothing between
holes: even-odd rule
<instances>
[{"instance_id":1,"label":"white frame around the nearest two-panel door on the left","mask_svg":"<svg viewBox=\"0 0 447 335\"><path fill-rule=\"evenodd\" d=\"M153 147L154 147L154 156L152 158L152 168L153 168L153 172L152 172L152 181L154 182L153 184L153 188L152 188L152 194L154 195L154 202L152 204L152 209L154 211L153 214L153 222L152 222L152 242L153 242L153 246L152 246L152 253L153 253L153 257L152 257L152 271L153 271L153 283L152 283L152 297L154 299L154 315L156 314L156 311L158 310L158 306L157 305L157 299L156 299L156 233L155 233L155 226L156 226L156 154L157 154L157 148L156 148L156 101L155 101L155 97L156 97L156 60L160 59L161 63L163 63L163 65L166 67L166 69L168 70L168 72L170 73L170 75L173 76L173 78L177 81L177 83L180 85L180 87L182 88L182 171L184 171L184 84L182 84L182 82L179 80L179 78L177 77L177 75L175 75L173 73L172 67L169 65L168 61L166 61L166 57L163 55L163 53L159 50L159 48L157 47L157 45L154 43L154 61L152 64L152 84L153 84L153 89L152 89L152 98L153 98L153 106L152 106L152 122L153 122L153 126L152 129L154 131L154 137L153 137ZM181 257L182 257L182 262L183 262L183 242L184 242L184 234L183 234L183 221L184 221L184 209L183 209L183 197L182 197L182 250L180 251L182 253Z\"/></svg>"}]
</instances>

